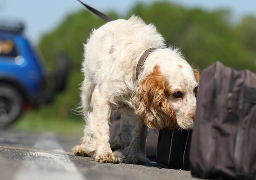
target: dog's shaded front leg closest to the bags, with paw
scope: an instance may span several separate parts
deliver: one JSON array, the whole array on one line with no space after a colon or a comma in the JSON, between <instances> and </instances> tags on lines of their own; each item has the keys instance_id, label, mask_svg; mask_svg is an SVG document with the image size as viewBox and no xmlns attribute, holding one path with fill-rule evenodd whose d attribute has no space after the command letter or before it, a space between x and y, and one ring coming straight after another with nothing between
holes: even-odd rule
<instances>
[{"instance_id":1,"label":"dog's shaded front leg closest to the bags, with paw","mask_svg":"<svg viewBox=\"0 0 256 180\"><path fill-rule=\"evenodd\" d=\"M140 116L133 116L133 139L129 147L125 148L123 155L126 156L125 162L131 164L148 164L146 156L146 139L148 128Z\"/></svg>"}]
</instances>

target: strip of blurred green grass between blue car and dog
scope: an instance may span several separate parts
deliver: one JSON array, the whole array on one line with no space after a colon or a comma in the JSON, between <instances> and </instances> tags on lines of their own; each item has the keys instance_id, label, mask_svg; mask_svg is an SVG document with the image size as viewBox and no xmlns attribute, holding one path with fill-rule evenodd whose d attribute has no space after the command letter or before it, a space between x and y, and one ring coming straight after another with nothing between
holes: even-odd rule
<instances>
[{"instance_id":1,"label":"strip of blurred green grass between blue car and dog","mask_svg":"<svg viewBox=\"0 0 256 180\"><path fill-rule=\"evenodd\" d=\"M56 134L82 135L85 123L82 118L58 119L54 117L37 116L35 112L25 114L12 127L15 130L45 132L51 131Z\"/></svg>"}]
</instances>

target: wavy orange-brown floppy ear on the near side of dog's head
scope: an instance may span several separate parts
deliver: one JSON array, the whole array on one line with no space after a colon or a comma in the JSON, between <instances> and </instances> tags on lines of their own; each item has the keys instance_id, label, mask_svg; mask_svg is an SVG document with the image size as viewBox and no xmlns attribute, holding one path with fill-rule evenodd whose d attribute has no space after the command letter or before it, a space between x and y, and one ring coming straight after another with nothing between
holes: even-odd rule
<instances>
[{"instance_id":1,"label":"wavy orange-brown floppy ear on the near side of dog's head","mask_svg":"<svg viewBox=\"0 0 256 180\"><path fill-rule=\"evenodd\" d=\"M168 103L168 89L168 81L156 65L153 72L138 84L137 90L132 94L135 114L142 116L149 128L176 127L175 112Z\"/></svg>"}]
</instances>

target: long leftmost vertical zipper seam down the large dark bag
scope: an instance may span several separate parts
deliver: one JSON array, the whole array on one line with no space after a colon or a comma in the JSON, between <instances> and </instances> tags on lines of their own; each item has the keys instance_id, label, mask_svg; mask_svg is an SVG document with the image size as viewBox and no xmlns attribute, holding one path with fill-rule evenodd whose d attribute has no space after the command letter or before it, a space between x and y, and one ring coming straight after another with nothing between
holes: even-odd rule
<instances>
[{"instance_id":1,"label":"long leftmost vertical zipper seam down the large dark bag","mask_svg":"<svg viewBox=\"0 0 256 180\"><path fill-rule=\"evenodd\" d=\"M212 102L211 102L211 109L213 109L213 103L216 99L217 63L215 63L214 69L215 69L215 73L214 73L214 91L213 91L213 98L212 98ZM211 116L210 116L210 119L213 119L213 118L214 118L214 114L212 113ZM212 146L212 121L211 121L211 129L210 129L210 132L209 132L208 151L207 151L207 154L206 154L206 170L203 174L203 178L205 178L207 173L209 172L209 159L210 159L211 146Z\"/></svg>"}]
</instances>

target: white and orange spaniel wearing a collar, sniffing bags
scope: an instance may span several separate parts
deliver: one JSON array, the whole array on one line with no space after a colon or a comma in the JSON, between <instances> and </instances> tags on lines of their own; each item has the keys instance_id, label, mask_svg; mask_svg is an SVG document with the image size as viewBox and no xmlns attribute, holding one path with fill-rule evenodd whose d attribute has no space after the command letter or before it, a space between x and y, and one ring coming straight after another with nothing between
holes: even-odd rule
<instances>
[{"instance_id":1,"label":"white and orange spaniel wearing a collar, sniffing bags","mask_svg":"<svg viewBox=\"0 0 256 180\"><path fill-rule=\"evenodd\" d=\"M153 24L135 15L110 21L93 30L84 52L81 108L86 126L75 155L119 163L121 157L111 148L120 148L125 162L147 164L147 128L193 127L199 72L178 49L166 47ZM109 142L109 119L117 110L120 129Z\"/></svg>"}]
</instances>

